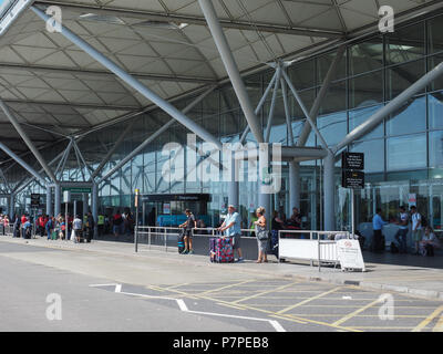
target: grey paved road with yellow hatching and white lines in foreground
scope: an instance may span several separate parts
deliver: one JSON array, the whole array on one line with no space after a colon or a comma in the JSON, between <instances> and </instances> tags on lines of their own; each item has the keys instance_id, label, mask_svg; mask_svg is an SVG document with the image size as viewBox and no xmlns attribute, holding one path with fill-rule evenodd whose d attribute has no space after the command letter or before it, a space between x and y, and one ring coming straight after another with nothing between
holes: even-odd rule
<instances>
[{"instance_id":1,"label":"grey paved road with yellow hatching and white lines in foreground","mask_svg":"<svg viewBox=\"0 0 443 354\"><path fill-rule=\"evenodd\" d=\"M381 308L382 293L357 287L151 262L0 242L0 331L443 329L441 301L392 293L391 313ZM61 321L47 319L51 293L61 295Z\"/></svg>"}]
</instances>

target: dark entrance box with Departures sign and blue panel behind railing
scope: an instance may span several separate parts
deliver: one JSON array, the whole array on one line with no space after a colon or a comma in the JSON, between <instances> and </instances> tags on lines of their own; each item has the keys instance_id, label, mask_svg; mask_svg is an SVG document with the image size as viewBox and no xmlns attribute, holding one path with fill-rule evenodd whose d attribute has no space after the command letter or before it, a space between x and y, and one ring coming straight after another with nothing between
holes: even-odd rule
<instances>
[{"instance_id":1,"label":"dark entrance box with Departures sign and blue panel behind railing","mask_svg":"<svg viewBox=\"0 0 443 354\"><path fill-rule=\"evenodd\" d=\"M210 199L208 194L142 195L143 225L176 227L186 221L185 210L189 209L197 220L208 226Z\"/></svg>"}]
</instances>

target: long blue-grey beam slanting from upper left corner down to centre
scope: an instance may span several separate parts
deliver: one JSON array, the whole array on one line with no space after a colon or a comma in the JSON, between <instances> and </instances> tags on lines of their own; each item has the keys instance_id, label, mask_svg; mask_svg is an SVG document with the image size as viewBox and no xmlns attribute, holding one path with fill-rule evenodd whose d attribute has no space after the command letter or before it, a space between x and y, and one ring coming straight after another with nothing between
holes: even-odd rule
<instances>
[{"instance_id":1,"label":"long blue-grey beam slanting from upper left corner down to centre","mask_svg":"<svg viewBox=\"0 0 443 354\"><path fill-rule=\"evenodd\" d=\"M49 21L51 19L43 11L41 11L38 8L35 8L34 6L31 7L31 10L37 15L39 15L43 21ZM64 25L61 24L61 28L62 28L61 34L63 34L68 40L70 40L75 45L78 45L80 49L82 49L90 56L95 59L104 67L106 67L107 70L113 72L116 76L119 76L121 80L123 80L123 82L125 82L127 85L130 85L135 91L141 93L143 96L145 96L151 102L155 103L159 108L165 111L167 114L169 114L177 122L179 122L184 126L186 126L189 129L192 129L193 132L195 132L205 142L210 142L210 143L215 144L220 150L223 149L222 143L219 140L217 140L206 129L200 127L196 122L194 122L193 119L188 118L186 115L184 115L182 112L179 112L176 107L174 107L167 101L163 100L156 93L154 93L153 91L147 88L138 80L136 80L133 76L131 76L124 70L122 70L119 65L116 65L113 61L109 60L106 56L101 54L99 51L96 51L94 48L92 48L89 43L86 43L80 37L74 34L72 31L68 30Z\"/></svg>"}]
</instances>

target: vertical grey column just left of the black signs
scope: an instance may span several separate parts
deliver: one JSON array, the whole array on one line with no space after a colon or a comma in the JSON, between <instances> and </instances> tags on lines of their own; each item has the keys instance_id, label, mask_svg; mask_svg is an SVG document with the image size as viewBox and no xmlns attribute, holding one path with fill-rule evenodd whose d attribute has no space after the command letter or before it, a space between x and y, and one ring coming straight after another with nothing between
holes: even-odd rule
<instances>
[{"instance_id":1,"label":"vertical grey column just left of the black signs","mask_svg":"<svg viewBox=\"0 0 443 354\"><path fill-rule=\"evenodd\" d=\"M334 155L328 152L323 159L323 216L324 231L336 229L336 178L334 178Z\"/></svg>"}]
</instances>

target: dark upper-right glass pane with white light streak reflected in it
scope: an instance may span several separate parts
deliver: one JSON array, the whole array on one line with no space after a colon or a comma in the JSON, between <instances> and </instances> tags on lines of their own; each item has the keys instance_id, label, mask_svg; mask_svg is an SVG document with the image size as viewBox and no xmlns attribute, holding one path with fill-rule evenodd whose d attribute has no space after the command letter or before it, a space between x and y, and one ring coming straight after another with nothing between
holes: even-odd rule
<instances>
[{"instance_id":1,"label":"dark upper-right glass pane with white light streak reflected in it","mask_svg":"<svg viewBox=\"0 0 443 354\"><path fill-rule=\"evenodd\" d=\"M388 33L387 39L387 65L399 64L424 55L424 22L395 29Z\"/></svg>"}]
</instances>

